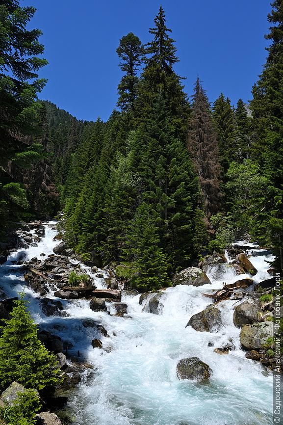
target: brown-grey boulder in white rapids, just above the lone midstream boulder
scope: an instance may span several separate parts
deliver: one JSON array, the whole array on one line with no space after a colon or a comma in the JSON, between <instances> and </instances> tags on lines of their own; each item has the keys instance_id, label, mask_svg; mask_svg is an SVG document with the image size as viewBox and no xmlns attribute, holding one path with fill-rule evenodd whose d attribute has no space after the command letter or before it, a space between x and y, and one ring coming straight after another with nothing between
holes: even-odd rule
<instances>
[{"instance_id":1,"label":"brown-grey boulder in white rapids, just above the lone midstream boulder","mask_svg":"<svg viewBox=\"0 0 283 425\"><path fill-rule=\"evenodd\" d=\"M219 332L223 326L221 313L218 308L207 307L205 310L193 315L187 325L199 332Z\"/></svg>"}]
</instances>

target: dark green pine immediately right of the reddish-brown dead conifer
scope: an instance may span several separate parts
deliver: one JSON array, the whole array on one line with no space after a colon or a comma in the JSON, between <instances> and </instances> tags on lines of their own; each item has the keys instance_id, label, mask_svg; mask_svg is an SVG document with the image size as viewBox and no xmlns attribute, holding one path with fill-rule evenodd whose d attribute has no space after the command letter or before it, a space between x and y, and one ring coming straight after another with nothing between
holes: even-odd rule
<instances>
[{"instance_id":1,"label":"dark green pine immediately right of the reddish-brown dead conifer","mask_svg":"<svg viewBox=\"0 0 283 425\"><path fill-rule=\"evenodd\" d=\"M230 162L235 159L238 146L235 146L234 112L229 98L221 93L213 104L212 119L217 133L219 159L226 174Z\"/></svg>"}]
</instances>

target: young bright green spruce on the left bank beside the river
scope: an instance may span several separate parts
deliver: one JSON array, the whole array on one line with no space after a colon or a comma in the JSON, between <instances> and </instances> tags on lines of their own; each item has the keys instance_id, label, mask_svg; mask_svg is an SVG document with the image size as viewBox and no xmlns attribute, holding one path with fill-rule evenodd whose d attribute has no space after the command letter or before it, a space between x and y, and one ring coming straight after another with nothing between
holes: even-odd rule
<instances>
[{"instance_id":1,"label":"young bright green spruce on the left bank beside the river","mask_svg":"<svg viewBox=\"0 0 283 425\"><path fill-rule=\"evenodd\" d=\"M26 309L26 301L14 301L11 319L0 337L0 386L18 381L27 388L41 390L60 380L56 357L39 341L36 324Z\"/></svg>"}]
</instances>

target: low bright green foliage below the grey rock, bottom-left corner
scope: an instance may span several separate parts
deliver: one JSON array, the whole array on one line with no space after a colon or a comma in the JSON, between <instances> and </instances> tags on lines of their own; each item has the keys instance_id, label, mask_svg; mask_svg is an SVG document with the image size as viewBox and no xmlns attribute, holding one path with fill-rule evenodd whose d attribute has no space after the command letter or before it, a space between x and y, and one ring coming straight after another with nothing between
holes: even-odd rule
<instances>
[{"instance_id":1,"label":"low bright green foliage below the grey rock, bottom-left corner","mask_svg":"<svg viewBox=\"0 0 283 425\"><path fill-rule=\"evenodd\" d=\"M27 389L19 393L18 398L12 405L0 408L0 418L7 425L34 425L36 413L41 408L40 398L33 389Z\"/></svg>"}]
</instances>

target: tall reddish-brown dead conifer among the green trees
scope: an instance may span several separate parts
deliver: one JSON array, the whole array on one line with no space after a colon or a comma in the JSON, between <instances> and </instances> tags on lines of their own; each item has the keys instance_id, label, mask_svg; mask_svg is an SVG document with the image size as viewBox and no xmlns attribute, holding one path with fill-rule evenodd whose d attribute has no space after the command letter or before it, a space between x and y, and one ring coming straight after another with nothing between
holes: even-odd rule
<instances>
[{"instance_id":1,"label":"tall reddish-brown dead conifer among the green trees","mask_svg":"<svg viewBox=\"0 0 283 425\"><path fill-rule=\"evenodd\" d=\"M189 124L188 149L199 175L206 217L219 211L221 204L218 144L209 103L199 78L193 96Z\"/></svg>"}]
</instances>

